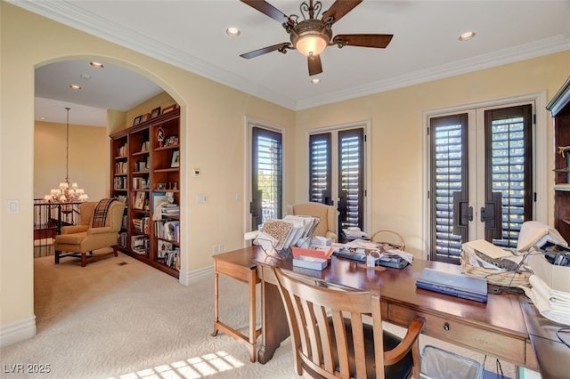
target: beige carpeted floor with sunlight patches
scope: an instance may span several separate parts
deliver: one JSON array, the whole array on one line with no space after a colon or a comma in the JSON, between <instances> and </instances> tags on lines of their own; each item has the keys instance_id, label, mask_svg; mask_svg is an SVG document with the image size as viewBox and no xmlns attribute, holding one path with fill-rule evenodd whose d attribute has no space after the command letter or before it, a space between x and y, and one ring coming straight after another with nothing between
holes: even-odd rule
<instances>
[{"instance_id":1,"label":"beige carpeted floor with sunlight patches","mask_svg":"<svg viewBox=\"0 0 570 379\"><path fill-rule=\"evenodd\" d=\"M85 268L73 260L55 265L53 256L34 262L37 335L0 350L2 378L297 377L289 339L261 365L249 362L241 343L222 333L210 335L213 274L182 286L123 254ZM220 314L246 332L244 284L220 278ZM436 344L483 361L481 354L421 338L422 345ZM28 364L49 365L50 372L12 373L19 364L24 371ZM515 377L513 365L501 362L501 367L505 376ZM486 359L485 368L495 371L495 359Z\"/></svg>"}]
</instances>

